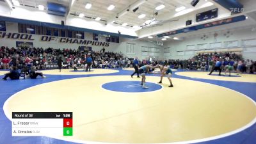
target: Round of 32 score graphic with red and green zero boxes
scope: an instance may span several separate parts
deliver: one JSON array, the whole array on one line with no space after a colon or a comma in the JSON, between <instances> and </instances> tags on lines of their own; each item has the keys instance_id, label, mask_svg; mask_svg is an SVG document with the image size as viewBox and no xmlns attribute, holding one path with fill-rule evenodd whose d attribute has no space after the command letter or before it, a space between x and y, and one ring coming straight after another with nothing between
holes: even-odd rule
<instances>
[{"instance_id":1,"label":"Round of 32 score graphic with red and green zero boxes","mask_svg":"<svg viewBox=\"0 0 256 144\"><path fill-rule=\"evenodd\" d=\"M73 136L72 112L12 112L12 136Z\"/></svg>"}]
</instances>

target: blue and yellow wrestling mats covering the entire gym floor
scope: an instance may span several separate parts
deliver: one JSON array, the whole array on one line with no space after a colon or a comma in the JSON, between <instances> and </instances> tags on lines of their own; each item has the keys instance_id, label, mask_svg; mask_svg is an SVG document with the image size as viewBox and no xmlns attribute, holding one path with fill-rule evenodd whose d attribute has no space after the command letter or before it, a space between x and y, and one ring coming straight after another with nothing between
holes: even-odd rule
<instances>
[{"instance_id":1,"label":"blue and yellow wrestling mats covering the entire gym floor","mask_svg":"<svg viewBox=\"0 0 256 144\"><path fill-rule=\"evenodd\" d=\"M43 70L46 79L0 81L4 143L254 143L256 75L173 70L168 79L132 68ZM5 72L0 71L3 75ZM1 76L3 77L3 76ZM12 137L12 112L73 112L73 136Z\"/></svg>"}]
</instances>

